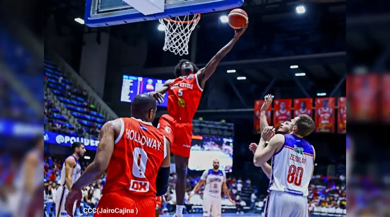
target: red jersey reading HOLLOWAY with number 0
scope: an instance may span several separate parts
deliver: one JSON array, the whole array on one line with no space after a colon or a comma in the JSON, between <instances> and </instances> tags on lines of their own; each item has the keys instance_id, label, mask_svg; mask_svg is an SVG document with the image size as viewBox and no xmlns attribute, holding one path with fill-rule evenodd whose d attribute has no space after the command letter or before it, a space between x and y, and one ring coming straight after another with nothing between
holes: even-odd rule
<instances>
[{"instance_id":1,"label":"red jersey reading HOLLOWAY with number 0","mask_svg":"<svg viewBox=\"0 0 390 217\"><path fill-rule=\"evenodd\" d=\"M107 168L102 194L156 197L157 171L167 156L165 137L150 122L119 118L121 129Z\"/></svg>"}]
</instances>

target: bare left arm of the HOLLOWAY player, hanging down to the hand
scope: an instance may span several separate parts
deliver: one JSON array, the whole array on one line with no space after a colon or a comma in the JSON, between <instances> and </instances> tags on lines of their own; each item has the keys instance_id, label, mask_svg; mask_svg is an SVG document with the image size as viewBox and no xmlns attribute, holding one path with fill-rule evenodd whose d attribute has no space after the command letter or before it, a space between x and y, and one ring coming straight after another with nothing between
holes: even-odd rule
<instances>
[{"instance_id":1,"label":"bare left arm of the HOLLOWAY player, hanging down to the hand","mask_svg":"<svg viewBox=\"0 0 390 217\"><path fill-rule=\"evenodd\" d=\"M94 161L87 166L84 173L73 184L68 196L66 197L65 210L68 215L73 217L73 204L77 200L77 207L80 207L81 188L87 186L98 178L104 171L107 170L108 163L114 152L115 131L120 131L121 122L119 119L108 121L100 129L100 142L96 151ZM119 133L117 133L119 135Z\"/></svg>"}]
</instances>

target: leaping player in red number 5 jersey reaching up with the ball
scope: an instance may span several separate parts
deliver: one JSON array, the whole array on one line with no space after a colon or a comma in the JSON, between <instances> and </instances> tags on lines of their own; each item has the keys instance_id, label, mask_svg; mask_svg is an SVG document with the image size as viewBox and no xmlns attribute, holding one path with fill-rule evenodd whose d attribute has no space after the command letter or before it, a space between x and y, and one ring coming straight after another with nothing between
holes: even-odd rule
<instances>
[{"instance_id":1,"label":"leaping player in red number 5 jersey reaching up with the ball","mask_svg":"<svg viewBox=\"0 0 390 217\"><path fill-rule=\"evenodd\" d=\"M236 30L234 38L225 45L207 65L198 70L189 60L182 59L176 65L176 79L167 80L162 88L150 94L162 102L162 94L168 92L168 115L163 115L158 122L160 130L167 134L172 142L172 153L176 161L176 214L183 217L184 195L186 190L186 171L190 158L192 119L199 105L205 82L213 75L218 63L233 48L248 27L248 23ZM168 127L168 128L167 128ZM169 130L168 130L169 129Z\"/></svg>"}]
</instances>

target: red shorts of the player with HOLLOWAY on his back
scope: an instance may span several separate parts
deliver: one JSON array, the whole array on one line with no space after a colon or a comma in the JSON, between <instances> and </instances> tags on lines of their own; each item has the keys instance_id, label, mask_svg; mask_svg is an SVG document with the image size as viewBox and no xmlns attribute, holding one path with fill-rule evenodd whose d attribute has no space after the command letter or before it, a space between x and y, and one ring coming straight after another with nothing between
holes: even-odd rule
<instances>
[{"instance_id":1,"label":"red shorts of the player with HOLLOWAY on his back","mask_svg":"<svg viewBox=\"0 0 390 217\"><path fill-rule=\"evenodd\" d=\"M104 213L109 210L115 212ZM100 198L94 217L155 217L155 210L155 197L129 197L123 192L113 192Z\"/></svg>"}]
</instances>

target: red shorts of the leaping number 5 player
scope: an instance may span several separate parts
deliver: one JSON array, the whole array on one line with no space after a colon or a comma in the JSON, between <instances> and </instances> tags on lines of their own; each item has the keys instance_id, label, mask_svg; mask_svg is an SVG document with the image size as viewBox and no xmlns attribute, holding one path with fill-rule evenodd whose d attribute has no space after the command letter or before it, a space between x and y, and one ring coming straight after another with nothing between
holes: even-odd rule
<instances>
[{"instance_id":1,"label":"red shorts of the leaping number 5 player","mask_svg":"<svg viewBox=\"0 0 390 217\"><path fill-rule=\"evenodd\" d=\"M163 115L158 120L158 129L171 142L171 153L190 158L192 123L180 122L170 115Z\"/></svg>"}]
</instances>

